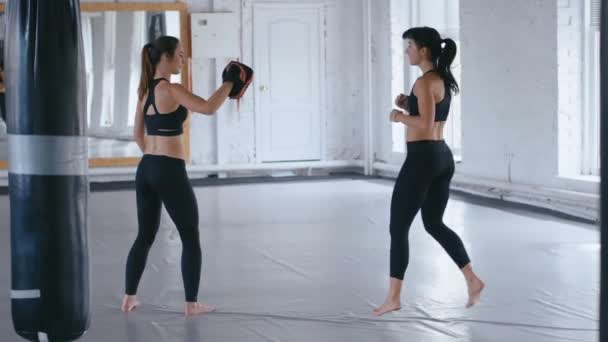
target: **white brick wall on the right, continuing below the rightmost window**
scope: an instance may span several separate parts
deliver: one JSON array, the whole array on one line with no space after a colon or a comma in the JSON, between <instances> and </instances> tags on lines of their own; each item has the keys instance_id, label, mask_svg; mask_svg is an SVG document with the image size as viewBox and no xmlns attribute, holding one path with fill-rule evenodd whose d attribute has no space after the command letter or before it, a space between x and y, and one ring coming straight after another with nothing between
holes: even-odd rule
<instances>
[{"instance_id":1,"label":"white brick wall on the right, continuing below the rightmost window","mask_svg":"<svg viewBox=\"0 0 608 342\"><path fill-rule=\"evenodd\" d=\"M560 148L575 163L570 171L580 168L580 24L575 9L562 11L566 3L576 6L559 1L558 15L555 0L461 2L463 156L454 186L597 219L597 181L560 175Z\"/></svg>"}]
</instances>

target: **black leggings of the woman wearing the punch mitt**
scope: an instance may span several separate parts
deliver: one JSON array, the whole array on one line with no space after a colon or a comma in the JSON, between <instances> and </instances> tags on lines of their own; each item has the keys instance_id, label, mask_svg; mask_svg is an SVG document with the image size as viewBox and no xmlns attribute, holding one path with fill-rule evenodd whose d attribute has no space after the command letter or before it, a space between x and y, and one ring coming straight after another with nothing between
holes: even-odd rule
<instances>
[{"instance_id":1,"label":"black leggings of the woman wearing the punch mitt","mask_svg":"<svg viewBox=\"0 0 608 342\"><path fill-rule=\"evenodd\" d=\"M135 295L160 224L161 203L182 240L182 278L187 302L196 302L201 275L198 206L181 159L144 155L135 177L139 232L127 258L126 294Z\"/></svg>"}]
</instances>

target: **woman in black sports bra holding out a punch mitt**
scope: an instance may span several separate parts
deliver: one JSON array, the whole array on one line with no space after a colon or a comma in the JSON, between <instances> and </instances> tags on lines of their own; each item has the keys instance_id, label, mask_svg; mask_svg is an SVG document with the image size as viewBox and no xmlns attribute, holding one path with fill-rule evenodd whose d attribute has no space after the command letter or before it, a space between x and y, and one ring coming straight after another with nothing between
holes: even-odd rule
<instances>
[{"instance_id":1,"label":"woman in black sports bra holding out a punch mitt","mask_svg":"<svg viewBox=\"0 0 608 342\"><path fill-rule=\"evenodd\" d=\"M205 100L181 84L169 82L184 64L184 50L175 37L160 37L142 50L142 74L134 135L144 153L135 178L138 234L127 258L125 296L122 310L129 312L139 303L139 281L148 252L158 231L164 204L182 241L181 269L186 315L213 311L198 302L202 252L198 231L198 206L186 173L183 124L188 111L212 115L230 96L241 94L253 71L240 63L229 64L223 84ZM244 70L249 72L243 72Z\"/></svg>"}]
</instances>

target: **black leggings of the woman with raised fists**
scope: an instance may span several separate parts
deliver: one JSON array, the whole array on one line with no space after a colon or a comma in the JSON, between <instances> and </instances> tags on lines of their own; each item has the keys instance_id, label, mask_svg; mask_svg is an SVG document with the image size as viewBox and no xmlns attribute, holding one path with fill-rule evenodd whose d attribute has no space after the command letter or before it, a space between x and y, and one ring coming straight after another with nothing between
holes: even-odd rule
<instances>
[{"instance_id":1,"label":"black leggings of the woman with raised fists","mask_svg":"<svg viewBox=\"0 0 608 342\"><path fill-rule=\"evenodd\" d=\"M408 235L418 210L426 231L463 268L469 257L462 240L443 223L450 196L454 157L443 140L407 143L407 157L391 201L391 277L403 279L409 263Z\"/></svg>"}]
</instances>

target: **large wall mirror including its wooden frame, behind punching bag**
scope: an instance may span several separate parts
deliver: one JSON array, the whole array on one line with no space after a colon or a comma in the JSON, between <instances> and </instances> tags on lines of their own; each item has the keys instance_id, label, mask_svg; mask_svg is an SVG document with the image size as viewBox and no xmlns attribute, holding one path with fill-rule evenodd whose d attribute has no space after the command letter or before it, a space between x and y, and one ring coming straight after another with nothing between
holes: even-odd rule
<instances>
[{"instance_id":1,"label":"large wall mirror including its wooden frame, behind punching bag","mask_svg":"<svg viewBox=\"0 0 608 342\"><path fill-rule=\"evenodd\" d=\"M174 4L91 3L82 5L81 27L87 85L89 165L137 165L142 156L133 138L142 47L162 35L182 41L188 55L187 8ZM4 42L4 12L0 13L0 49ZM188 86L186 65L171 82ZM0 86L0 89L3 89ZM0 90L3 91L3 90ZM4 94L0 93L0 107ZM0 109L0 110L3 110ZM188 124L184 140L188 149ZM6 124L0 122L0 168L6 168Z\"/></svg>"}]
</instances>

